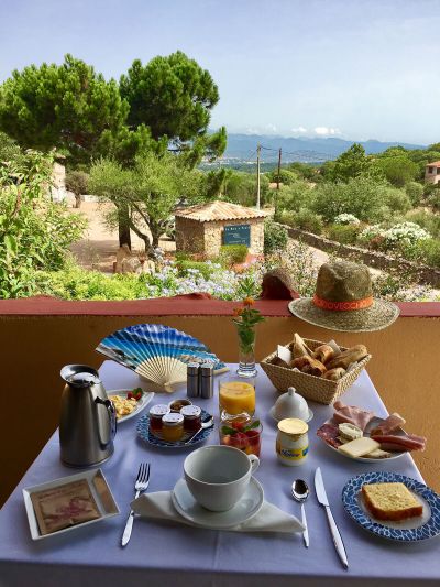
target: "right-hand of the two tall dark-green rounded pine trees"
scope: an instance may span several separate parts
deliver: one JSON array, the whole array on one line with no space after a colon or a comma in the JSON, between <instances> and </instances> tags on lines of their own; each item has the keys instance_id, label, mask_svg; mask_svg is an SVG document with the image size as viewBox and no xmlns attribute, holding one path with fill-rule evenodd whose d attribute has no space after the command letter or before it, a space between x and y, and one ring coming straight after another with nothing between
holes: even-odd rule
<instances>
[{"instance_id":1,"label":"right-hand of the two tall dark-green rounded pine trees","mask_svg":"<svg viewBox=\"0 0 440 587\"><path fill-rule=\"evenodd\" d=\"M157 56L145 66L135 59L121 77L120 91L129 104L129 127L145 124L156 141L166 137L186 152L191 166L205 155L224 152L226 129L208 134L211 110L219 101L218 87L209 72L185 53Z\"/></svg>"}]
</instances>

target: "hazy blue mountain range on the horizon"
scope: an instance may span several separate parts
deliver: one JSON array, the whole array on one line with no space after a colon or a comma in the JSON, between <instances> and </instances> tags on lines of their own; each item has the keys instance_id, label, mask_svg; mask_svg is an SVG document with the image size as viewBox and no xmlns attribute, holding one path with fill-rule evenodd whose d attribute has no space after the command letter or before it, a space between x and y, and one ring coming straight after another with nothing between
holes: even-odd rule
<instances>
[{"instance_id":1,"label":"hazy blue mountain range on the horizon","mask_svg":"<svg viewBox=\"0 0 440 587\"><path fill-rule=\"evenodd\" d=\"M256 145L262 145L262 161L272 163L278 160L278 149L283 150L283 163L301 161L304 163L322 163L337 159L353 143L360 142L369 154L382 153L389 146L405 149L425 149L426 145L381 141L346 141L344 139L307 139L294 137L274 137L265 134L228 134L228 148L223 155L227 162L255 161Z\"/></svg>"}]
</instances>

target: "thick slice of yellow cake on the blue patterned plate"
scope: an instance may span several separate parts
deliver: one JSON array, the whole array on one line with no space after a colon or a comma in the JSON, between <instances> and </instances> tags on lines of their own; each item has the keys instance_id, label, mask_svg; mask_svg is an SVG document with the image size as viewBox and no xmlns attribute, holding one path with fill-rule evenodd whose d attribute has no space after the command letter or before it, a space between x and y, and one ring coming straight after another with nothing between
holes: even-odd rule
<instances>
[{"instance_id":1,"label":"thick slice of yellow cake on the blue patterned plate","mask_svg":"<svg viewBox=\"0 0 440 587\"><path fill-rule=\"evenodd\" d=\"M362 486L370 513L377 520L406 520L421 515L424 507L404 483L371 483Z\"/></svg>"}]
</instances>

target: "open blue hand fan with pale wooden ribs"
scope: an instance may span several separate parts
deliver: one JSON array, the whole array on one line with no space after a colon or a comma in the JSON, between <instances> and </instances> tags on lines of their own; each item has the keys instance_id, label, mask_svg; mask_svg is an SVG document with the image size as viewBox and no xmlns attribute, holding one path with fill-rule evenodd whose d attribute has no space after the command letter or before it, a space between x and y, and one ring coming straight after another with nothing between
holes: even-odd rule
<instances>
[{"instance_id":1,"label":"open blue hand fan with pale wooden ribs","mask_svg":"<svg viewBox=\"0 0 440 587\"><path fill-rule=\"evenodd\" d=\"M156 392L172 393L185 382L188 362L210 362L216 374L228 371L204 343L162 324L128 326L103 338L96 350L135 371Z\"/></svg>"}]
</instances>

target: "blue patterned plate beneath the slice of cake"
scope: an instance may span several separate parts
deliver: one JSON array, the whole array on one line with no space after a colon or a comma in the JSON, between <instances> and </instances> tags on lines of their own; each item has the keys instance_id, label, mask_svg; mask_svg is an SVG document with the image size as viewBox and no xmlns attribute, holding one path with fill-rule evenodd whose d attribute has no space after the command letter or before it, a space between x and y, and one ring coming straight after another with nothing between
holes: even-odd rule
<instances>
[{"instance_id":1,"label":"blue patterned plate beneath the slice of cake","mask_svg":"<svg viewBox=\"0 0 440 587\"><path fill-rule=\"evenodd\" d=\"M420 518L402 522L388 522L372 518L362 498L362 486L370 483L400 482L415 493L424 506ZM432 489L397 472L365 472L350 479L342 489L342 503L349 514L362 528L377 536L398 542L418 542L440 534L440 496Z\"/></svg>"}]
</instances>

